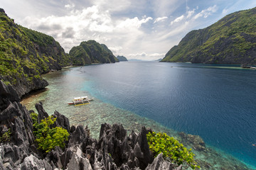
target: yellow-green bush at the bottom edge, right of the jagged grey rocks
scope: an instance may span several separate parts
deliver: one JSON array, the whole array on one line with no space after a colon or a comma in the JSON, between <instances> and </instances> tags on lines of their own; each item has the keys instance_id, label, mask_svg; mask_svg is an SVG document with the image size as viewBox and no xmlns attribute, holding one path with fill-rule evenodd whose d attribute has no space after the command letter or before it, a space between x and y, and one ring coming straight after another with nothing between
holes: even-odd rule
<instances>
[{"instance_id":1,"label":"yellow-green bush at the bottom edge, right of the jagged grey rocks","mask_svg":"<svg viewBox=\"0 0 256 170\"><path fill-rule=\"evenodd\" d=\"M164 158L170 159L176 165L183 164L183 166L191 166L192 169L200 169L194 161L194 154L191 149L187 149L174 137L169 137L166 133L149 132L146 135L149 143L149 149L154 153L155 157L163 153Z\"/></svg>"}]
</instances>

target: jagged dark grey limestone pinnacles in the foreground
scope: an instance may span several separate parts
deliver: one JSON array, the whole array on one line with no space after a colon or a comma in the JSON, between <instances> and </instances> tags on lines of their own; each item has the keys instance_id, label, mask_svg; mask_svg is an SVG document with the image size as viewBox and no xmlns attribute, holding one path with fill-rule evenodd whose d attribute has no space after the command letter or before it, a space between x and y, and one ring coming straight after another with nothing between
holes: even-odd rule
<instances>
[{"instance_id":1,"label":"jagged dark grey limestone pinnacles in the foreground","mask_svg":"<svg viewBox=\"0 0 256 170\"><path fill-rule=\"evenodd\" d=\"M0 81L1 136L11 129L10 140L0 145L0 169L181 169L166 162L161 154L154 159L149 151L145 127L127 135L122 125L102 124L99 140L90 137L87 127L69 124L68 118L55 111L53 126L70 133L65 149L55 147L47 154L37 149L33 122L25 106L19 103L12 86ZM42 103L36 104L38 119L48 117Z\"/></svg>"}]
</instances>

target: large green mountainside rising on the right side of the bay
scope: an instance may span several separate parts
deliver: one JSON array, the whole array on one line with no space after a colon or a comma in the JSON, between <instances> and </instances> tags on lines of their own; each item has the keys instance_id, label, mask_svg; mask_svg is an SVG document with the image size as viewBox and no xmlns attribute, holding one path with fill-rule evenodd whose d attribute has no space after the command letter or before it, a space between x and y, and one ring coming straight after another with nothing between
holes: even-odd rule
<instances>
[{"instance_id":1,"label":"large green mountainside rising on the right side of the bay","mask_svg":"<svg viewBox=\"0 0 256 170\"><path fill-rule=\"evenodd\" d=\"M161 62L256 64L256 8L225 16L192 30Z\"/></svg>"}]
</instances>

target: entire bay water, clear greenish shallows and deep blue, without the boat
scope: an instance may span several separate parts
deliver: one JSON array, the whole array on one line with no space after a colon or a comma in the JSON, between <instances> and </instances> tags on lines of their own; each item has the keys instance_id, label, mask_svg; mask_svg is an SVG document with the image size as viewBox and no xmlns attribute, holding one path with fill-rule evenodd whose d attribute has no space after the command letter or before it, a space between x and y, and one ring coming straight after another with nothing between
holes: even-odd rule
<instances>
[{"instance_id":1,"label":"entire bay water, clear greenish shallows and deep blue, without the boat","mask_svg":"<svg viewBox=\"0 0 256 170\"><path fill-rule=\"evenodd\" d=\"M57 110L72 124L88 125L95 137L105 122L122 123L128 130L149 125L174 136L186 132L255 168L256 70L120 62L71 67L45 78L48 91L24 100L26 106L42 101L48 113ZM65 104L76 96L92 96L95 101Z\"/></svg>"}]
</instances>

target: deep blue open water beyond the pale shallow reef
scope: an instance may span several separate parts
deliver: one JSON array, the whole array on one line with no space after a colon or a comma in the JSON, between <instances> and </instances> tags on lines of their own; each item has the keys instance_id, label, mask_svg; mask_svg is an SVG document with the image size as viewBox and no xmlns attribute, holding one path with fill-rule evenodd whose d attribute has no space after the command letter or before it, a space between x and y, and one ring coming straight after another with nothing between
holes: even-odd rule
<instances>
[{"instance_id":1,"label":"deep blue open water beyond the pale shallow reef","mask_svg":"<svg viewBox=\"0 0 256 170\"><path fill-rule=\"evenodd\" d=\"M256 70L159 62L82 69L92 96L256 164Z\"/></svg>"}]
</instances>

